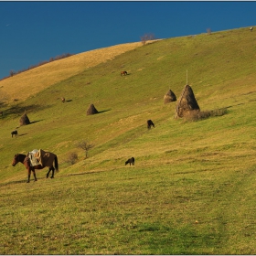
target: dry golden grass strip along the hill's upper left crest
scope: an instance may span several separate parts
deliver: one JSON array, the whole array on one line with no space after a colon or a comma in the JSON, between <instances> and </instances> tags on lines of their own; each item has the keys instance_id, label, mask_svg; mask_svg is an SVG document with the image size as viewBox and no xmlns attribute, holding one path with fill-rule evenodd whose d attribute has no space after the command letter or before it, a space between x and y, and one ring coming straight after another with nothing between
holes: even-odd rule
<instances>
[{"instance_id":1,"label":"dry golden grass strip along the hill's upper left crest","mask_svg":"<svg viewBox=\"0 0 256 256\"><path fill-rule=\"evenodd\" d=\"M150 43L150 42L149 42ZM0 90L9 103L15 99L25 101L28 97L42 91L60 80L66 80L91 68L113 59L126 51L143 46L141 42L127 43L109 48L94 49L59 59L48 64L30 69L14 77L0 81Z\"/></svg>"}]
</instances>

